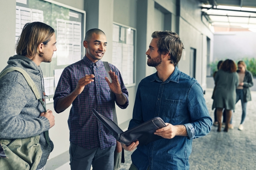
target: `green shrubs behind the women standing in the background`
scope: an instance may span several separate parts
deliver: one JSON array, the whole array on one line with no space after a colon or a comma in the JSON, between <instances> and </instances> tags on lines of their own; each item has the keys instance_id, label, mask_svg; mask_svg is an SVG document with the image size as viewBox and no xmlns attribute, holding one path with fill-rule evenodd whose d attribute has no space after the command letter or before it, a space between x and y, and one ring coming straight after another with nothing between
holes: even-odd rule
<instances>
[{"instance_id":1,"label":"green shrubs behind the women standing in the background","mask_svg":"<svg viewBox=\"0 0 256 170\"><path fill-rule=\"evenodd\" d=\"M222 59L222 60L224 61L226 59ZM234 60L236 64L238 61L244 61L245 64L247 65L247 70L252 73L253 77L256 77L256 58L241 58L238 60ZM209 64L211 68L211 75L213 75L213 73L217 71L218 62L219 60L215 60Z\"/></svg>"}]
</instances>

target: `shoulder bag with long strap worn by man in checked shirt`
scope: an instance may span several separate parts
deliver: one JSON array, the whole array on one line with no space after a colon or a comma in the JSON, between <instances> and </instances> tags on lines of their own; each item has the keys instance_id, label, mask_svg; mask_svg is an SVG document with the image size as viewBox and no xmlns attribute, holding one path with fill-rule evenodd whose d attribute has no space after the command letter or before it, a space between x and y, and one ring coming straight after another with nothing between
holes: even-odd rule
<instances>
[{"instance_id":1,"label":"shoulder bag with long strap worn by man in checked shirt","mask_svg":"<svg viewBox=\"0 0 256 170\"><path fill-rule=\"evenodd\" d=\"M112 79L108 73L108 71L110 71L109 64L106 61L104 61L103 64L107 71L108 79L110 82L112 82ZM115 122L115 124L118 124L117 112L115 110L115 94L112 91L111 91L110 97L111 97L111 103L112 103L113 121ZM115 146L115 152L114 152L114 170L119 170L121 168L121 163L124 163L124 149L122 148L121 143L117 141L117 145Z\"/></svg>"}]
</instances>

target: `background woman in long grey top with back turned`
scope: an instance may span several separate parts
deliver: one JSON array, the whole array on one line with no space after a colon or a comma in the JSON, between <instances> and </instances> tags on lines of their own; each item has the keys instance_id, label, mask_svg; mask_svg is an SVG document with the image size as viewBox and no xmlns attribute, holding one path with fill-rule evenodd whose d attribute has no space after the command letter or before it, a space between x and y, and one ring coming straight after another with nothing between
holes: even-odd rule
<instances>
[{"instance_id":1,"label":"background woman in long grey top with back turned","mask_svg":"<svg viewBox=\"0 0 256 170\"><path fill-rule=\"evenodd\" d=\"M236 87L238 86L238 75L236 64L233 60L225 60L221 69L215 75L216 90L212 108L217 108L218 130L221 132L221 117L223 108L226 110L226 126L224 132L228 132L229 123L232 117L232 110L235 110Z\"/></svg>"}]
</instances>

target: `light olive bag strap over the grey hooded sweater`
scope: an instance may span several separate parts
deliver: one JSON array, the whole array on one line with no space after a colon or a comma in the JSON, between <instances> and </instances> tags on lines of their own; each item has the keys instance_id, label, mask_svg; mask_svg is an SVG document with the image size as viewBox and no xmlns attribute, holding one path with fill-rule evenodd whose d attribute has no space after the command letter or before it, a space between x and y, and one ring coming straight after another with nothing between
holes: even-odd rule
<instances>
[{"instance_id":1,"label":"light olive bag strap over the grey hooded sweater","mask_svg":"<svg viewBox=\"0 0 256 170\"><path fill-rule=\"evenodd\" d=\"M26 81L28 82L28 86L31 88L31 90L33 91L34 95L35 95L35 98L42 104L45 112L47 112L46 110L46 107L45 107L45 104L43 102L43 100L41 99L40 97L40 93L37 89L37 87L35 86L35 83L34 81L31 79L30 75L28 75L28 73L22 69L22 68L19 68L19 67L10 67L10 68L7 68L5 69L4 71L2 71L0 73L0 79L6 75L7 73L11 72L11 71L19 71L23 77L26 79ZM49 142L49 132L48 130L44 132L45 134L45 139L46 139L46 142L48 143L48 145L50 146L50 142Z\"/></svg>"}]
</instances>

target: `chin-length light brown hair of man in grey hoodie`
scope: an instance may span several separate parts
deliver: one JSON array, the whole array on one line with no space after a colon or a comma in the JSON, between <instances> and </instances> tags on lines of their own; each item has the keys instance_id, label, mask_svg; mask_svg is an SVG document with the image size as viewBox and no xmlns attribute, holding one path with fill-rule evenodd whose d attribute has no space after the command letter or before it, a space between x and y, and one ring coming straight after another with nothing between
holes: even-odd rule
<instances>
[{"instance_id":1,"label":"chin-length light brown hair of man in grey hoodie","mask_svg":"<svg viewBox=\"0 0 256 170\"><path fill-rule=\"evenodd\" d=\"M43 53L40 53L37 47L41 43L47 45L53 34L54 29L43 22L25 24L17 40L16 53L24 56L28 55L32 57L32 60L36 54L42 57Z\"/></svg>"}]
</instances>

